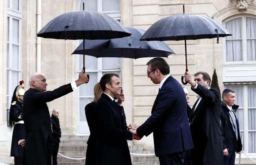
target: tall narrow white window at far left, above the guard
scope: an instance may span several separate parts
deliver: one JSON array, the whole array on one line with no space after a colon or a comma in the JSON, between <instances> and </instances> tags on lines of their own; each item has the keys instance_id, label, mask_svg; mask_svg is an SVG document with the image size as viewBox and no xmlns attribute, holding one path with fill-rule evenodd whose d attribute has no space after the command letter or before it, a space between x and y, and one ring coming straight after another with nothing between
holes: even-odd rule
<instances>
[{"instance_id":1,"label":"tall narrow white window at far left, above the guard","mask_svg":"<svg viewBox=\"0 0 256 165\"><path fill-rule=\"evenodd\" d=\"M21 0L7 1L7 109L20 81L21 72Z\"/></svg>"}]
</instances>

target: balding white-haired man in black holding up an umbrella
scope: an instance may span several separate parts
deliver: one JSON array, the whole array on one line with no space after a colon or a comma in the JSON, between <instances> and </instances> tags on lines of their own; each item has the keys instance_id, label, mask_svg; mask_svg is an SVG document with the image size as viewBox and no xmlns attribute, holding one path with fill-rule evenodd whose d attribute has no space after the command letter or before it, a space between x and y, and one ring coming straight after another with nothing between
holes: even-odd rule
<instances>
[{"instance_id":1,"label":"balding white-haired man in black holding up an umbrella","mask_svg":"<svg viewBox=\"0 0 256 165\"><path fill-rule=\"evenodd\" d=\"M33 73L29 78L29 90L23 99L23 119L26 129L23 165L51 165L52 121L47 102L67 95L88 81L87 74L80 72L78 80L53 91L46 91L46 78L42 73ZM24 145L23 142L19 142Z\"/></svg>"}]
</instances>

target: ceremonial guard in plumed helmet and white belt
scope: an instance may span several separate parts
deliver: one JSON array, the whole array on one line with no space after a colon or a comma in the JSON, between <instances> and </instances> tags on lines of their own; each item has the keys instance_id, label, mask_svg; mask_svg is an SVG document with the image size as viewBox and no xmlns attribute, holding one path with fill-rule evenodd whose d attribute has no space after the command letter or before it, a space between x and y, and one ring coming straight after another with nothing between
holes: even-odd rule
<instances>
[{"instance_id":1,"label":"ceremonial guard in plumed helmet and white belt","mask_svg":"<svg viewBox=\"0 0 256 165\"><path fill-rule=\"evenodd\" d=\"M26 137L25 125L23 121L23 96L25 91L24 81L20 81L20 85L18 85L14 90L14 95L12 96L12 103L10 108L10 125L14 125L13 133L12 133L12 145L11 145L11 157L14 157L15 165L22 165L22 157L23 157L23 148L18 145L18 141L20 139L24 139Z\"/></svg>"}]
</instances>

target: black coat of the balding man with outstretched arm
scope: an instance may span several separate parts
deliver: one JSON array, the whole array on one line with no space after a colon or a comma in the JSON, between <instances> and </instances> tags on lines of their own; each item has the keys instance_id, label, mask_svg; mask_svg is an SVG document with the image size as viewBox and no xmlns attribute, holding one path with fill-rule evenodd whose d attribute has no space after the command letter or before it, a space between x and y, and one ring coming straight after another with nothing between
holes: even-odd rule
<instances>
[{"instance_id":1,"label":"black coat of the balding man with outstretched arm","mask_svg":"<svg viewBox=\"0 0 256 165\"><path fill-rule=\"evenodd\" d=\"M48 148L46 142L52 139L52 122L47 102L72 92L71 84L63 85L53 91L40 92L30 88L23 99L23 119L26 129L26 145L23 164L47 164ZM49 138L49 139L48 139Z\"/></svg>"}]
</instances>

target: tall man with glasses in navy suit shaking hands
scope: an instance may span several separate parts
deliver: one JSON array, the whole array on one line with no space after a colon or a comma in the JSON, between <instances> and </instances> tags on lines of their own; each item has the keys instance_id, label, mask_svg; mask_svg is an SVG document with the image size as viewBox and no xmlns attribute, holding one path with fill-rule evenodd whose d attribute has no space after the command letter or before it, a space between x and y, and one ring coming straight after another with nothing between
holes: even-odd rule
<instances>
[{"instance_id":1,"label":"tall man with glasses in navy suit shaking hands","mask_svg":"<svg viewBox=\"0 0 256 165\"><path fill-rule=\"evenodd\" d=\"M159 85L151 116L136 130L134 139L153 132L155 155L160 165L183 165L186 150L193 148L188 126L187 101L180 83L170 76L170 67L163 58L147 63L147 77Z\"/></svg>"}]
</instances>

